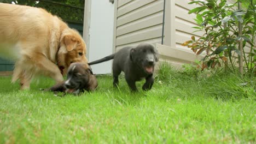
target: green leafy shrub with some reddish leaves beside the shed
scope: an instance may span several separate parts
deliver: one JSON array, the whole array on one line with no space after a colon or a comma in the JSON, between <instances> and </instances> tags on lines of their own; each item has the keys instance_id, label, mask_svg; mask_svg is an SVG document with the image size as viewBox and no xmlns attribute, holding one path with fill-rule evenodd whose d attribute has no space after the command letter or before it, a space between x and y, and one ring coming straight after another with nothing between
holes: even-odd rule
<instances>
[{"instance_id":1,"label":"green leafy shrub with some reddish leaves beside the shed","mask_svg":"<svg viewBox=\"0 0 256 144\"><path fill-rule=\"evenodd\" d=\"M237 3L242 2L246 10L234 10ZM189 14L196 13L196 31L205 32L202 37L185 41L183 46L189 47L196 55L205 53L202 59L202 70L205 68L222 67L235 71L237 57L245 59L246 69L253 72L255 69L255 31L256 13L255 1L236 1L234 4L226 4L226 0L193 1L189 4L200 4L191 9ZM248 4L249 3L249 4ZM242 35L238 34L238 23L242 24ZM237 49L238 41L243 40L243 48L246 43L250 46L250 52L245 53Z\"/></svg>"}]
</instances>

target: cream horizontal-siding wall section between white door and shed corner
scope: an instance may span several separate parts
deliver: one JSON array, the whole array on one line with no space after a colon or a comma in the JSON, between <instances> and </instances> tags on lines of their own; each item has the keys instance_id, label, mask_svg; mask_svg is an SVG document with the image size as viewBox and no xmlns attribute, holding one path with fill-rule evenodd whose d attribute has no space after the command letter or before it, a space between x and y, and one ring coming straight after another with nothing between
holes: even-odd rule
<instances>
[{"instance_id":1,"label":"cream horizontal-siding wall section between white door and shed corner","mask_svg":"<svg viewBox=\"0 0 256 144\"><path fill-rule=\"evenodd\" d=\"M138 43L161 44L164 0L119 0L114 51Z\"/></svg>"}]
</instances>

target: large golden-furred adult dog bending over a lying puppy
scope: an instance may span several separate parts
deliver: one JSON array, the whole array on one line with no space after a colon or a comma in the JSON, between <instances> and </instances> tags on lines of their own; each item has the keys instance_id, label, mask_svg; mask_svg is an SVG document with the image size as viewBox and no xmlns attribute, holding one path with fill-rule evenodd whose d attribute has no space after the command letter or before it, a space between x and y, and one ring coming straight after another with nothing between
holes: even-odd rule
<instances>
[{"instance_id":1,"label":"large golden-furred adult dog bending over a lying puppy","mask_svg":"<svg viewBox=\"0 0 256 144\"><path fill-rule=\"evenodd\" d=\"M88 63L77 31L44 9L0 3L0 56L16 61L12 82L30 87L36 75L63 81L73 62Z\"/></svg>"}]
</instances>

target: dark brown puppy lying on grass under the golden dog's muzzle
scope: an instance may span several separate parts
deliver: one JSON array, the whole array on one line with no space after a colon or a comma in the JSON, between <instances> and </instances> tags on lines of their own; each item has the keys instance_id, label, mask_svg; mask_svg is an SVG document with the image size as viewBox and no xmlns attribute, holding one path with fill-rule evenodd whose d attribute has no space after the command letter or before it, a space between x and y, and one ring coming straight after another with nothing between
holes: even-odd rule
<instances>
[{"instance_id":1,"label":"dark brown puppy lying on grass under the golden dog's muzzle","mask_svg":"<svg viewBox=\"0 0 256 144\"><path fill-rule=\"evenodd\" d=\"M85 63L72 63L67 71L67 80L47 91L78 94L83 91L94 91L98 86L96 76Z\"/></svg>"}]
</instances>

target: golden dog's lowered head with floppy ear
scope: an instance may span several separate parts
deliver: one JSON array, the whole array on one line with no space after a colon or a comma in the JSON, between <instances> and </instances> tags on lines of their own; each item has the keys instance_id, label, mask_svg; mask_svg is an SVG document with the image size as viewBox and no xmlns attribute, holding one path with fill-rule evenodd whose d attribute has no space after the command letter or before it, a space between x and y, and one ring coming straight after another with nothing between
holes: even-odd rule
<instances>
[{"instance_id":1,"label":"golden dog's lowered head with floppy ear","mask_svg":"<svg viewBox=\"0 0 256 144\"><path fill-rule=\"evenodd\" d=\"M61 35L60 48L57 53L57 64L62 74L66 74L71 63L88 63L86 45L81 35L74 29L68 28Z\"/></svg>"}]
</instances>

